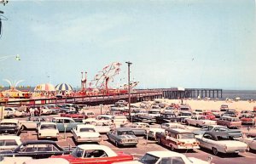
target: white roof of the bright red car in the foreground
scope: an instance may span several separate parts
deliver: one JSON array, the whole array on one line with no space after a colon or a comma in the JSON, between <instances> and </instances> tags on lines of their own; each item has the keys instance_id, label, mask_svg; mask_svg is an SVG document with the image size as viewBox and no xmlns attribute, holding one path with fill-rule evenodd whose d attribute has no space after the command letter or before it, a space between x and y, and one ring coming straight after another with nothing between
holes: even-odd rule
<instances>
[{"instance_id":1,"label":"white roof of the bright red car in the foreground","mask_svg":"<svg viewBox=\"0 0 256 164\"><path fill-rule=\"evenodd\" d=\"M79 144L78 147L82 150L104 150L108 154L108 157L117 156L108 146L101 144Z\"/></svg>"}]
</instances>

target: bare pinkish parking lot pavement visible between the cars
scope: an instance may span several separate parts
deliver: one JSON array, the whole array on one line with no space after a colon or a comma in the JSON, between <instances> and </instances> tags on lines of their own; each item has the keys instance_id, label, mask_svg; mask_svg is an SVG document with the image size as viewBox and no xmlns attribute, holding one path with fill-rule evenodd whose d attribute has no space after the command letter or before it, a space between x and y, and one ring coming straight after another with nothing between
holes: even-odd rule
<instances>
[{"instance_id":1,"label":"bare pinkish parking lot pavement visible between the cars","mask_svg":"<svg viewBox=\"0 0 256 164\"><path fill-rule=\"evenodd\" d=\"M96 112L99 112L98 109L95 109ZM54 116L48 116L48 117L54 117ZM22 118L25 119L25 118ZM154 125L158 126L158 125ZM253 132L255 129L251 129L250 131ZM243 132L247 132L247 127L242 127ZM27 140L37 140L37 133L35 131L25 131L20 133L20 137L22 141ZM62 147L71 146L74 147L75 144L73 142L72 133L61 133L58 140L56 141L57 144L59 144ZM156 144L154 141L144 139L143 137L139 137L139 143L137 144L137 147L124 147L124 148L117 148L112 143L108 141L108 137L106 135L103 135L103 141L100 143L103 145L107 145L111 149L113 149L116 152L124 152L127 154L131 154L134 156L135 159L139 159L141 156L143 156L148 151L154 151L154 150L168 150L167 148ZM214 156L212 154L212 151L209 150L189 150L189 151L180 151L181 153L185 154L189 157L195 157L202 160L207 160L209 156L212 156L212 162L218 163L218 164L248 164L248 163L255 163L256 154L255 152L244 152L240 153L239 156L234 155L220 155L220 156Z\"/></svg>"}]
</instances>

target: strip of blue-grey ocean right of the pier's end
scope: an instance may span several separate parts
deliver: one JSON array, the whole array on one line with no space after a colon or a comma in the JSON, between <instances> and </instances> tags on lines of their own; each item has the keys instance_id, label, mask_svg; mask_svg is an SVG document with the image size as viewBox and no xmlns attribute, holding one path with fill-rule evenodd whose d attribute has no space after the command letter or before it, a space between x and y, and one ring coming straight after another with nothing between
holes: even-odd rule
<instances>
[{"instance_id":1,"label":"strip of blue-grey ocean right of the pier's end","mask_svg":"<svg viewBox=\"0 0 256 164\"><path fill-rule=\"evenodd\" d=\"M240 97L241 100L256 99L256 90L223 90L223 99L236 99Z\"/></svg>"}]
</instances>

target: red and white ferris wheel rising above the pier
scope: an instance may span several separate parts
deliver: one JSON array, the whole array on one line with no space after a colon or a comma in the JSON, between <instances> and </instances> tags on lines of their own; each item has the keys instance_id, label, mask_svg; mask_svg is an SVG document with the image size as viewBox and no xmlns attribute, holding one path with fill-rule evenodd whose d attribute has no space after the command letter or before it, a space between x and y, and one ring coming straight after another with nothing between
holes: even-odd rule
<instances>
[{"instance_id":1,"label":"red and white ferris wheel rising above the pier","mask_svg":"<svg viewBox=\"0 0 256 164\"><path fill-rule=\"evenodd\" d=\"M113 77L119 74L121 65L122 64L118 62L106 65L89 83L90 88L105 89L108 93L108 84L110 81L113 82Z\"/></svg>"}]
</instances>

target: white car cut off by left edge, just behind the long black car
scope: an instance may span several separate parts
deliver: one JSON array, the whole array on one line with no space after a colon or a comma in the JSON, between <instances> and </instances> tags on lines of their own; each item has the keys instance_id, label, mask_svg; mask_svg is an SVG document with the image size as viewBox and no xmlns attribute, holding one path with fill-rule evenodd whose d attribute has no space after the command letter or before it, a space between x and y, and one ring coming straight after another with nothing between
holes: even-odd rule
<instances>
[{"instance_id":1,"label":"white car cut off by left edge, just behind the long black car","mask_svg":"<svg viewBox=\"0 0 256 164\"><path fill-rule=\"evenodd\" d=\"M0 153L3 150L14 150L20 144L21 141L19 136L0 136Z\"/></svg>"}]
</instances>

